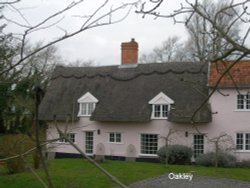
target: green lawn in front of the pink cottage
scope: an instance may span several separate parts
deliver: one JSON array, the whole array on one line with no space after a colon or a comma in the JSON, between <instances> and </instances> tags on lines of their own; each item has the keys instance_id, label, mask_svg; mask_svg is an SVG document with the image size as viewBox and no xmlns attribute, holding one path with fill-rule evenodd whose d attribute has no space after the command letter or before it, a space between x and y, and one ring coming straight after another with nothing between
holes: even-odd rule
<instances>
[{"instance_id":1,"label":"green lawn in front of the pink cottage","mask_svg":"<svg viewBox=\"0 0 250 188\"><path fill-rule=\"evenodd\" d=\"M191 172L194 176L213 176L220 178L237 179L250 182L250 169L246 168L212 168L201 166L183 166L155 163L133 163L121 161L105 161L101 164L106 170L116 176L126 185L164 173ZM93 165L81 159L58 159L48 162L52 181L57 188L115 188L109 178ZM0 187L33 188L42 187L31 173L25 172L14 175L3 175L4 169L0 167ZM43 178L42 170L37 171Z\"/></svg>"}]
</instances>

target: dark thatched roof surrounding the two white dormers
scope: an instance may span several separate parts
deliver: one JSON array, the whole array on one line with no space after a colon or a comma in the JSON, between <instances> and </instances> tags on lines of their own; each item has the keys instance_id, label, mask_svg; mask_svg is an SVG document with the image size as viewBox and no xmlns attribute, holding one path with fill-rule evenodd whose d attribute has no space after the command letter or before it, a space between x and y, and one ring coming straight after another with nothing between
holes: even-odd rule
<instances>
[{"instance_id":1,"label":"dark thatched roof surrounding the two white dormers","mask_svg":"<svg viewBox=\"0 0 250 188\"><path fill-rule=\"evenodd\" d=\"M39 108L40 120L77 119L77 100L91 93L98 99L94 121L147 122L149 101L160 92L170 97L169 121L190 123L208 95L207 66L200 63L138 64L134 68L56 67ZM195 121L210 122L209 105L196 113Z\"/></svg>"}]
</instances>

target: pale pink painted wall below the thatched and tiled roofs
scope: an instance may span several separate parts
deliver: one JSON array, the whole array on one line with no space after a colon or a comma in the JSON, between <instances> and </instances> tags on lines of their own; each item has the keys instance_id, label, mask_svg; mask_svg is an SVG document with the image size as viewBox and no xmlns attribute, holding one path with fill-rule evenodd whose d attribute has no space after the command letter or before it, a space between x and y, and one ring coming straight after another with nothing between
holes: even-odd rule
<instances>
[{"instance_id":1,"label":"pale pink painted wall below the thatched and tiled roofs","mask_svg":"<svg viewBox=\"0 0 250 188\"><path fill-rule=\"evenodd\" d=\"M214 150L214 145L209 142L220 134L226 133L232 138L232 143L228 144L228 147L235 146L235 138L237 132L250 132L250 111L237 111L236 101L237 92L235 90L224 90L224 94L229 96L223 96L216 92L210 99L212 104L213 120L211 123L197 125L187 124L175 124L168 122L167 120L152 120L149 123L100 123L89 121L88 117L81 117L79 121L73 125L68 125L68 132L77 133L75 140L76 144L85 151L85 131L94 132L94 154L97 150L97 145L102 143L105 149L105 155L113 156L127 156L127 148L130 144L136 148L134 157L142 157L140 154L140 134L158 134L158 145L163 146L165 141L161 137L166 137L169 129L173 129L176 132L171 135L170 144L182 144L193 147L193 134L203 133L205 137L205 151ZM63 130L65 124L59 125ZM97 134L97 130L100 130L100 134ZM188 132L188 136L185 136L185 132ZM119 132L122 133L122 143L109 143L109 133ZM49 124L47 131L48 139L58 137L58 133L52 124ZM77 153L72 146L68 144L51 144L49 148L53 146L51 151L64 152L64 153ZM250 152L236 152L235 155L239 160L250 159Z\"/></svg>"}]
</instances>

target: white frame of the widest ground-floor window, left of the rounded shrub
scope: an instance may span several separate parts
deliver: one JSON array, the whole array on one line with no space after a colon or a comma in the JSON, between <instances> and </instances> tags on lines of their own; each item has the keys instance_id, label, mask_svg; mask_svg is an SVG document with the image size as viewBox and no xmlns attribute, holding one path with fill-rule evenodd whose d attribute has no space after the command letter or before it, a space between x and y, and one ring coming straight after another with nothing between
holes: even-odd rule
<instances>
[{"instance_id":1,"label":"white frame of the widest ground-floor window, left of the rounded shrub","mask_svg":"<svg viewBox=\"0 0 250 188\"><path fill-rule=\"evenodd\" d=\"M154 136L156 138L156 142L152 142L153 144L157 144L157 146L150 146L150 142L147 141L147 143L143 143L143 139L150 139L150 138L143 138L143 136ZM151 149L150 149L151 148ZM151 134L151 133L141 133L140 134L140 156L152 156L156 157L157 156L157 151L159 149L159 135L158 134Z\"/></svg>"}]
</instances>

